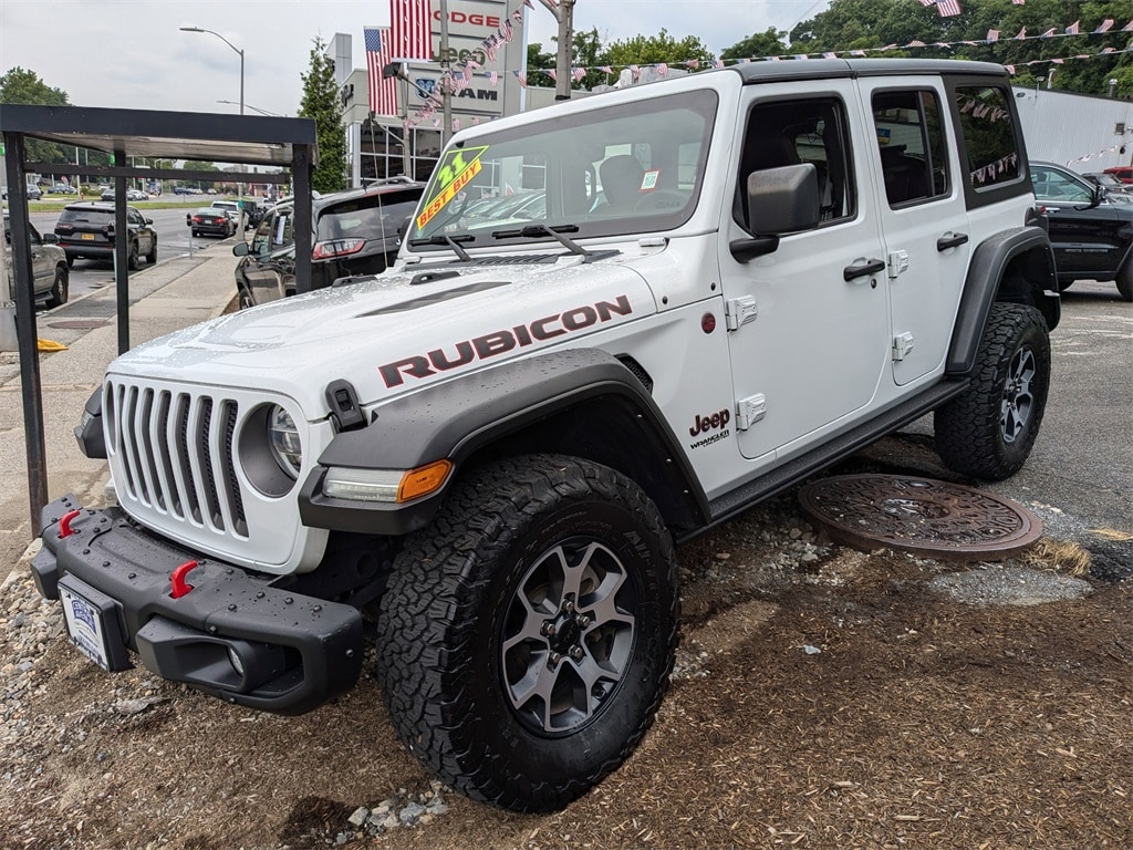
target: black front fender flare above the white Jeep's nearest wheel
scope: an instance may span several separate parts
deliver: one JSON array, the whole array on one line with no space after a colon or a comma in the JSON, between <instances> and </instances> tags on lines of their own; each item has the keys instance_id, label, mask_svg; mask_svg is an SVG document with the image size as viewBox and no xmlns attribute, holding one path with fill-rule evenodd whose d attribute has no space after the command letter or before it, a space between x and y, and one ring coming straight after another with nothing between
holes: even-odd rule
<instances>
[{"instance_id":1,"label":"black front fender flare above the white Jeep's nearest wheel","mask_svg":"<svg viewBox=\"0 0 1133 850\"><path fill-rule=\"evenodd\" d=\"M594 405L632 422L627 453L653 462L631 475L666 519L702 524L708 500L680 441L641 381L616 357L598 349L569 349L470 372L425 386L377 408L364 428L334 436L305 479L299 509L304 525L331 530L403 535L427 525L448 486L407 504L355 502L323 494L329 467L415 469L440 459L458 471L478 450L552 417ZM597 442L597 441L596 441ZM555 451L543 445L542 451ZM646 481L642 481L641 478ZM674 502L679 504L674 504Z\"/></svg>"}]
</instances>

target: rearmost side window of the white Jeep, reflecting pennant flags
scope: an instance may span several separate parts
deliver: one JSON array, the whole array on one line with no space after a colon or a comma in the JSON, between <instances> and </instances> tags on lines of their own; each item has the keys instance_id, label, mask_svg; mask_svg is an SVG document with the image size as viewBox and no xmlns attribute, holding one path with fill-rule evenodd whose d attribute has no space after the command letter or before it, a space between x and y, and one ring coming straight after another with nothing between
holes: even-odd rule
<instances>
[{"instance_id":1,"label":"rearmost side window of the white Jeep, reflecting pennant flags","mask_svg":"<svg viewBox=\"0 0 1133 850\"><path fill-rule=\"evenodd\" d=\"M1006 91L999 86L960 86L956 109L972 188L986 192L1017 180L1023 163Z\"/></svg>"}]
</instances>

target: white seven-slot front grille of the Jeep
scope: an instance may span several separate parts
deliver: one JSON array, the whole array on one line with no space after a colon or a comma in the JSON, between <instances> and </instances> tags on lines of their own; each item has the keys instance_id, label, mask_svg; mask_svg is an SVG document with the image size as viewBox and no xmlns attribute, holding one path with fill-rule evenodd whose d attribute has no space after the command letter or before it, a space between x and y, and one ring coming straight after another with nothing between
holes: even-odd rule
<instances>
[{"instance_id":1,"label":"white seven-slot front grille of the Jeep","mask_svg":"<svg viewBox=\"0 0 1133 850\"><path fill-rule=\"evenodd\" d=\"M239 402L108 382L103 413L119 498L214 533L247 537L236 476Z\"/></svg>"}]
</instances>

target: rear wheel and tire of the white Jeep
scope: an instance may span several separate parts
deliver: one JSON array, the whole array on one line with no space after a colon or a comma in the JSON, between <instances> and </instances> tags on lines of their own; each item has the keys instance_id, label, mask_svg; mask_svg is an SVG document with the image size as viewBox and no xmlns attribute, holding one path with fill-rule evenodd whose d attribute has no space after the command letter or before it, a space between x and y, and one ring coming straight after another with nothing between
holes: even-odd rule
<instances>
[{"instance_id":1,"label":"rear wheel and tire of the white Jeep","mask_svg":"<svg viewBox=\"0 0 1133 850\"><path fill-rule=\"evenodd\" d=\"M1049 386L1042 314L1021 304L991 305L971 385L935 414L940 459L974 478L1014 475L1038 436Z\"/></svg>"}]
</instances>

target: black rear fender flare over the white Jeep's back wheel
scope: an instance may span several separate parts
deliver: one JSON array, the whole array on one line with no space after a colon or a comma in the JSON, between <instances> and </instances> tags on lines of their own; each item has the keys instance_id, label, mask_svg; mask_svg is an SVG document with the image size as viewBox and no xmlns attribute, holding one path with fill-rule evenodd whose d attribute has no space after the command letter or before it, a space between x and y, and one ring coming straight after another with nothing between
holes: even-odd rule
<instances>
[{"instance_id":1,"label":"black rear fender flare over the white Jeep's back wheel","mask_svg":"<svg viewBox=\"0 0 1133 850\"><path fill-rule=\"evenodd\" d=\"M1003 289L1008 265L1024 254L1025 289L1007 292ZM996 300L1032 304L1053 330L1062 315L1062 303L1055 273L1055 254L1046 230L1026 226L1004 230L985 239L972 252L964 279L964 291L956 312L945 372L949 376L971 373L976 365L980 338Z\"/></svg>"}]
</instances>

